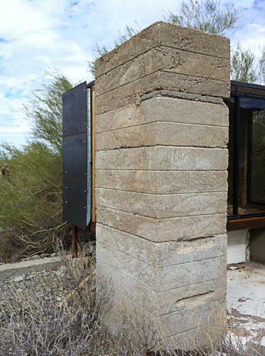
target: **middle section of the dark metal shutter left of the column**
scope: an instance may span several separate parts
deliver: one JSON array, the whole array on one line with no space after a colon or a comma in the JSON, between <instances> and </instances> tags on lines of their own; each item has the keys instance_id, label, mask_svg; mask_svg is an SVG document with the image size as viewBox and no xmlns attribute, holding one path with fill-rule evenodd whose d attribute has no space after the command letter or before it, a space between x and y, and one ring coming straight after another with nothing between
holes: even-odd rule
<instances>
[{"instance_id":1,"label":"middle section of the dark metal shutter left of the column","mask_svg":"<svg viewBox=\"0 0 265 356\"><path fill-rule=\"evenodd\" d=\"M87 182L87 133L63 137L63 179Z\"/></svg>"}]
</instances>

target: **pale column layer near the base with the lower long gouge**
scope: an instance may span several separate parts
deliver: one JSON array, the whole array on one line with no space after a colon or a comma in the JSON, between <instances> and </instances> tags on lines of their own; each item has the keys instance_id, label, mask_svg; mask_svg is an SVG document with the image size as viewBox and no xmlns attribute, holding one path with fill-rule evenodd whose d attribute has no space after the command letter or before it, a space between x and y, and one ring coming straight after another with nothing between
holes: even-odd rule
<instances>
[{"instance_id":1,"label":"pale column layer near the base with the lower long gouge","mask_svg":"<svg viewBox=\"0 0 265 356\"><path fill-rule=\"evenodd\" d=\"M117 308L123 302L132 302L136 305L142 305L149 313L158 317L193 308L196 303L208 303L225 298L226 277L200 281L190 286L173 288L163 292L155 292L143 283L117 271L102 261L99 261L98 265L99 273L105 273L107 268L105 278L109 281L109 293L116 293L116 297L118 297L112 301ZM114 290L112 289L113 285L115 286ZM136 290L137 293L135 293ZM175 300L175 303L172 303L172 300Z\"/></svg>"}]
</instances>

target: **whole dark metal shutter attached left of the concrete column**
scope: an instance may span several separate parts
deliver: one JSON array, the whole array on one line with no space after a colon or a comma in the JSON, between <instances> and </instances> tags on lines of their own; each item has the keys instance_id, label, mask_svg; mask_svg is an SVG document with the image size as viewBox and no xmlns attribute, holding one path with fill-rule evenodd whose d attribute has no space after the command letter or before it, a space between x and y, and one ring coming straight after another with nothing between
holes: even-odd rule
<instances>
[{"instance_id":1,"label":"whole dark metal shutter attached left of the concrete column","mask_svg":"<svg viewBox=\"0 0 265 356\"><path fill-rule=\"evenodd\" d=\"M91 219L91 88L63 94L63 220L86 229Z\"/></svg>"}]
</instances>

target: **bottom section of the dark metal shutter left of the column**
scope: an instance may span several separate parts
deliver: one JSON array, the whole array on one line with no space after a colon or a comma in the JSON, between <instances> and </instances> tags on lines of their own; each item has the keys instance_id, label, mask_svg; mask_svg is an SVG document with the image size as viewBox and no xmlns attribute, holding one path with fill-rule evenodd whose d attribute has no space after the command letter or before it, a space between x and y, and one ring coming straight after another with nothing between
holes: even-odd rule
<instances>
[{"instance_id":1,"label":"bottom section of the dark metal shutter left of the column","mask_svg":"<svg viewBox=\"0 0 265 356\"><path fill-rule=\"evenodd\" d=\"M86 229L87 182L63 182L63 220Z\"/></svg>"}]
</instances>

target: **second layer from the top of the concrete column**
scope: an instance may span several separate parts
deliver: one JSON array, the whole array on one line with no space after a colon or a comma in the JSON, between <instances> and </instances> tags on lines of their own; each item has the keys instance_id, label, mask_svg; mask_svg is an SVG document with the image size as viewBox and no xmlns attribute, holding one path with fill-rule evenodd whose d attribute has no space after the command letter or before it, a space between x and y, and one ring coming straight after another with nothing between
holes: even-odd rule
<instances>
[{"instance_id":1,"label":"second layer from the top of the concrete column","mask_svg":"<svg viewBox=\"0 0 265 356\"><path fill-rule=\"evenodd\" d=\"M97 95L102 95L122 87L134 80L161 70L182 75L223 81L224 73L229 75L229 60L205 56L200 53L180 51L175 48L159 46L143 53L141 57L118 66L97 78Z\"/></svg>"}]
</instances>

